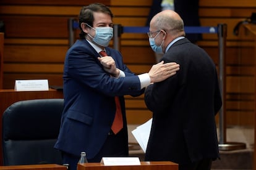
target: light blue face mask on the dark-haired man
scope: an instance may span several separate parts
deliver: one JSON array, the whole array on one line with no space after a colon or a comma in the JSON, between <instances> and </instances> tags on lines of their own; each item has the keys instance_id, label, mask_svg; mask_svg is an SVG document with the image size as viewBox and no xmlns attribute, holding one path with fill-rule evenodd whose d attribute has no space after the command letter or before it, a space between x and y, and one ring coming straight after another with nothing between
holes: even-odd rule
<instances>
[{"instance_id":1,"label":"light blue face mask on the dark-haired man","mask_svg":"<svg viewBox=\"0 0 256 170\"><path fill-rule=\"evenodd\" d=\"M88 25L88 24L86 24ZM92 28L93 30L95 30L95 36L94 38L88 34L88 36L90 36L90 38L92 38L93 42L95 42L96 44L106 47L109 44L109 41L113 38L113 28L111 27L96 27L93 28L92 26L88 25L90 28Z\"/></svg>"}]
</instances>

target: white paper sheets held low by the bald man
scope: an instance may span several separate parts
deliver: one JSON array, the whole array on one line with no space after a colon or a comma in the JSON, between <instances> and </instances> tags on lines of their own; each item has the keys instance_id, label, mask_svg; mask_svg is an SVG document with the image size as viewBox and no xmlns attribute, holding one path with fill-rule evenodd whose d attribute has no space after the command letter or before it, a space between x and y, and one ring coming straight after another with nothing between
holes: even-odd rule
<instances>
[{"instance_id":1,"label":"white paper sheets held low by the bald man","mask_svg":"<svg viewBox=\"0 0 256 170\"><path fill-rule=\"evenodd\" d=\"M148 145L148 138L150 136L151 124L152 124L152 118L149 119L146 123L143 123L142 125L136 127L136 129L132 131L132 134L134 135L135 139L139 143L144 153L146 152L147 145Z\"/></svg>"}]
</instances>

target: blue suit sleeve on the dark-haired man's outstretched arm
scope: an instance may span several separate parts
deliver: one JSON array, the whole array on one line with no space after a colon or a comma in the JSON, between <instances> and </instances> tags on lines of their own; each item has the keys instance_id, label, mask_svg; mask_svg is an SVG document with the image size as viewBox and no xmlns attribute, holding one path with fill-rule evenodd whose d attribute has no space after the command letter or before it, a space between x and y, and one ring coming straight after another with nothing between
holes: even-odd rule
<instances>
[{"instance_id":1,"label":"blue suit sleeve on the dark-haired man's outstretched arm","mask_svg":"<svg viewBox=\"0 0 256 170\"><path fill-rule=\"evenodd\" d=\"M78 46L67 54L68 73L83 86L89 86L93 91L98 91L109 96L139 95L140 80L138 76L113 78L103 70L96 54L84 47Z\"/></svg>"}]
</instances>

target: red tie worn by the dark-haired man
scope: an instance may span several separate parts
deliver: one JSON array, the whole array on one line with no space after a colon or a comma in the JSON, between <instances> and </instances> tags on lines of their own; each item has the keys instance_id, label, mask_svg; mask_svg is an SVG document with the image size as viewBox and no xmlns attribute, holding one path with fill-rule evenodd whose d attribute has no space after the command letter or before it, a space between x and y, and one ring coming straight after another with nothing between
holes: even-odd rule
<instances>
[{"instance_id":1,"label":"red tie worn by the dark-haired man","mask_svg":"<svg viewBox=\"0 0 256 170\"><path fill-rule=\"evenodd\" d=\"M105 51L101 51L100 55L102 57L107 56ZM116 115L114 116L114 121L113 124L111 126L112 131L114 132L114 134L117 134L117 132L119 132L122 129L122 111L121 111L121 105L120 105L120 101L119 98L116 96L114 97L114 100L116 102Z\"/></svg>"}]
</instances>

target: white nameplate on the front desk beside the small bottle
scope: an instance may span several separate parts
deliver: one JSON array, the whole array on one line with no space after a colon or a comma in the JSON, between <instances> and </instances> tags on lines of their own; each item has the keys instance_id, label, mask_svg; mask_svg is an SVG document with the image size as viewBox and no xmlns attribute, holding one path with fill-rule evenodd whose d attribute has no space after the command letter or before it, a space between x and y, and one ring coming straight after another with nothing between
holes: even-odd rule
<instances>
[{"instance_id":1,"label":"white nameplate on the front desk beside the small bottle","mask_svg":"<svg viewBox=\"0 0 256 170\"><path fill-rule=\"evenodd\" d=\"M140 165L138 157L103 157L101 163L107 166Z\"/></svg>"}]
</instances>

